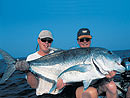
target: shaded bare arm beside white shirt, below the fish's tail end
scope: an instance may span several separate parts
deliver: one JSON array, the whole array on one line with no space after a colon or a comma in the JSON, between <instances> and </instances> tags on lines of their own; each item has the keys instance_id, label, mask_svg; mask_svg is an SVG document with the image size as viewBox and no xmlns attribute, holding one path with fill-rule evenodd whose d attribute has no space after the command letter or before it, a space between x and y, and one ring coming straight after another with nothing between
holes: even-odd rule
<instances>
[{"instance_id":1,"label":"shaded bare arm beside white shirt, below the fish's tail end","mask_svg":"<svg viewBox=\"0 0 130 98\"><path fill-rule=\"evenodd\" d=\"M38 86L38 79L31 72L27 73L27 82L31 86L31 88L37 88Z\"/></svg>"}]
</instances>

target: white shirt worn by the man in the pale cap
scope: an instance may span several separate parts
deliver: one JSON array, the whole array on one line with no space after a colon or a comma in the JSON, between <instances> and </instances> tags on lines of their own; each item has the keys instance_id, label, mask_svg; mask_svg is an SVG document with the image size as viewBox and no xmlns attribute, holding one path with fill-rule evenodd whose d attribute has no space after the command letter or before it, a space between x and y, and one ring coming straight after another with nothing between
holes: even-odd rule
<instances>
[{"instance_id":1,"label":"white shirt worn by the man in the pale cap","mask_svg":"<svg viewBox=\"0 0 130 98\"><path fill-rule=\"evenodd\" d=\"M54 51L56 51L56 49L51 48L50 53L53 53ZM38 59L40 57L42 57L42 56L39 55L38 52L35 52L35 53L29 55L27 57L26 61L32 61L32 60ZM50 83L40 77L38 77L38 80L39 80L39 84L38 84L38 87L36 88L36 95L38 96L38 95L42 95L45 93L49 93L50 89L53 86L53 83ZM51 94L57 94L57 93L58 92L52 92Z\"/></svg>"}]
</instances>

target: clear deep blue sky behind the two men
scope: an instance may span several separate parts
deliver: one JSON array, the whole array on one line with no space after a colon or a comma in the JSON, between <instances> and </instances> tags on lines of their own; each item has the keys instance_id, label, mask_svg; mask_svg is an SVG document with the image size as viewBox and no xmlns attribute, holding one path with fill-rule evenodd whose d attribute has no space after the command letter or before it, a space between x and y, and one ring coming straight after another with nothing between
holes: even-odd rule
<instances>
[{"instance_id":1,"label":"clear deep blue sky behind the two men","mask_svg":"<svg viewBox=\"0 0 130 98\"><path fill-rule=\"evenodd\" d=\"M90 29L92 47L130 49L130 0L0 0L0 48L13 57L35 52L41 30L52 47L78 47L77 32Z\"/></svg>"}]
</instances>

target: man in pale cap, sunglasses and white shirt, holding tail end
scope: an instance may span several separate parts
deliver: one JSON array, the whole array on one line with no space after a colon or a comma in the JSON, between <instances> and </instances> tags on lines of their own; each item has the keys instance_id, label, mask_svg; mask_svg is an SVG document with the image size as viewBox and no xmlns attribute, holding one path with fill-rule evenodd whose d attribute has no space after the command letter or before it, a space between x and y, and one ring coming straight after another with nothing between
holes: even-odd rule
<instances>
[{"instance_id":1,"label":"man in pale cap, sunglasses and white shirt, holding tail end","mask_svg":"<svg viewBox=\"0 0 130 98\"><path fill-rule=\"evenodd\" d=\"M37 42L39 45L39 51L36 51L35 53L29 55L26 61L32 61L38 59L42 56L48 55L49 53L53 53L56 50L54 48L50 48L53 42L53 37L51 32L48 30L42 30L40 32ZM59 79L58 81L62 81L62 80ZM36 77L31 72L27 73L27 82L32 88L36 89L36 95L42 95L48 93L48 91L51 89L53 85L52 83L47 82L40 77ZM64 86L64 84L62 85ZM57 88L58 88L58 83L57 83ZM56 91L52 93L57 94Z\"/></svg>"}]
</instances>

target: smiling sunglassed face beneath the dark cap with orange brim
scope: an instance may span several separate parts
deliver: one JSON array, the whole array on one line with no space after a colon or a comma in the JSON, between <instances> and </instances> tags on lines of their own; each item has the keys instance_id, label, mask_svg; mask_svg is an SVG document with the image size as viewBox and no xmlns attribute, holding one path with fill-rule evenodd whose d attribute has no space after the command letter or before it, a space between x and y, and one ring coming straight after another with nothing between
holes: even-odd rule
<instances>
[{"instance_id":1,"label":"smiling sunglassed face beneath the dark cap with orange brim","mask_svg":"<svg viewBox=\"0 0 130 98\"><path fill-rule=\"evenodd\" d=\"M91 45L90 38L81 38L81 39L78 39L77 41L81 48L87 48L87 47L90 47L90 45Z\"/></svg>"}]
</instances>

